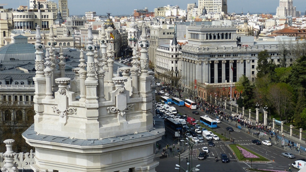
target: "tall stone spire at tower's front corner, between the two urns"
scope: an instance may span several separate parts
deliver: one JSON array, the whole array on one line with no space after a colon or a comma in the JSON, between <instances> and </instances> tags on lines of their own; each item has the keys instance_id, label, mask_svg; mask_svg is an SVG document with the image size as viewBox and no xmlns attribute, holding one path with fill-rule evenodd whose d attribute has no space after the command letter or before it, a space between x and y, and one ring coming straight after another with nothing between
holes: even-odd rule
<instances>
[{"instance_id":1,"label":"tall stone spire at tower's front corner, between the two urns","mask_svg":"<svg viewBox=\"0 0 306 172\"><path fill-rule=\"evenodd\" d=\"M95 46L93 45L93 35L91 25L88 27L87 36L87 78L85 80L86 86L86 104L98 103L97 101L97 86L98 80L96 78L96 67L95 67Z\"/></svg>"}]
</instances>

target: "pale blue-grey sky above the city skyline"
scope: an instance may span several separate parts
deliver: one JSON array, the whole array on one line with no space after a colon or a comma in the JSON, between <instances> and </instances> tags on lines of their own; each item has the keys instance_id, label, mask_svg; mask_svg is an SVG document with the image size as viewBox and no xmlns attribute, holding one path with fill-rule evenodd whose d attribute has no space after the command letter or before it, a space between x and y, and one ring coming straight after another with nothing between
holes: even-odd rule
<instances>
[{"instance_id":1,"label":"pale blue-grey sky above the city skyline","mask_svg":"<svg viewBox=\"0 0 306 172\"><path fill-rule=\"evenodd\" d=\"M26 5L31 0L0 0L4 8L17 8L19 5ZM58 0L54 0L58 3ZM69 15L85 15L85 12L95 11L97 15L132 15L134 9L144 9L149 11L154 8L166 5L178 5L181 9L187 9L188 3L198 5L197 0L68 0ZM227 0L229 13L276 13L279 0ZM293 6L298 11L304 13L306 8L305 0L293 0Z\"/></svg>"}]
</instances>

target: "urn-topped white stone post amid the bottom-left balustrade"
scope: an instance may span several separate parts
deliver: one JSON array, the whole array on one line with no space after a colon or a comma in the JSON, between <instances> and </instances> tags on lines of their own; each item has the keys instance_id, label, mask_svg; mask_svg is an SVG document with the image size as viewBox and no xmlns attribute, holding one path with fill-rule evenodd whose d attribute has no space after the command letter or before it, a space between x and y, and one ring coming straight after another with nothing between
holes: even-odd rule
<instances>
[{"instance_id":1,"label":"urn-topped white stone post amid the bottom-left balustrade","mask_svg":"<svg viewBox=\"0 0 306 172\"><path fill-rule=\"evenodd\" d=\"M13 151L12 146L15 140L13 139L7 139L3 141L6 145L6 152L3 154L3 157L5 158L5 164L2 167L2 172L18 172L18 169L15 167L14 164L14 156L16 153Z\"/></svg>"}]
</instances>

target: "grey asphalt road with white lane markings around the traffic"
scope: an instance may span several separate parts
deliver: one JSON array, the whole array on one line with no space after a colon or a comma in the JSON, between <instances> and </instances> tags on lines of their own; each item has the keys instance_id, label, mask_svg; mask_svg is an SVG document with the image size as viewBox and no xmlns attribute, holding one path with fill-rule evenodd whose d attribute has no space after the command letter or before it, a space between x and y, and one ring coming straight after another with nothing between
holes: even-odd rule
<instances>
[{"instance_id":1,"label":"grey asphalt road with white lane markings around the traffic","mask_svg":"<svg viewBox=\"0 0 306 172\"><path fill-rule=\"evenodd\" d=\"M207 115L204 112L201 112L200 110L197 110L200 114L195 115L192 114L191 109L188 109L187 107L179 107L173 104L175 108L177 108L178 112L184 114L187 114L188 116L191 116L195 118L196 120L200 119L200 116ZM215 117L210 116L212 119ZM289 164L293 163L297 159L305 158L304 156L299 156L298 154L295 154L295 159L288 159L287 157L281 156L282 152L287 152L284 149L278 148L276 146L266 146L266 145L255 145L252 144L251 141L256 139L256 137L253 137L250 134L245 133L243 130L237 130L230 132L225 130L226 127L229 125L221 122L218 123L218 128L213 129L218 134L225 134L227 138L232 137L235 139L234 143L243 145L244 147L252 150L253 152L258 153L259 155L263 157L267 157L267 159L270 160L269 163L252 163L253 168L259 168L259 169L271 169L271 170L288 170ZM264 137L261 137L261 141L265 140ZM199 152L202 151L202 147L208 147L207 141L204 139L203 142L195 144L192 148L190 148L190 152L192 154L192 165L196 166L197 164L200 164L201 166L198 167L200 170L213 170L213 171L241 171L242 168L250 168L251 163L245 163L245 162L238 162L236 157L233 155L233 152L229 148L228 144L231 144L229 141L227 143L223 141L214 141L215 147L209 147L209 153L207 154L208 157L205 160L198 160L197 155ZM182 167L185 169L187 168L186 160L185 158L189 155L188 154L189 146L185 147L185 152L181 154L181 161L182 164L184 164ZM230 163L221 163L220 161L215 162L214 157L218 156L220 160L220 154L226 153L226 155L230 158ZM178 164L178 156L174 158L164 159L160 160L159 166L156 168L156 171L165 171L163 169L167 169L167 171L178 171L175 170L175 164ZM207 163L210 163L209 165ZM213 163L213 164L211 164ZM215 165L214 163L218 163L218 165ZM169 164L173 164L173 167ZM173 169L173 170L172 170ZM292 169L292 171L298 171L297 169Z\"/></svg>"}]
</instances>

